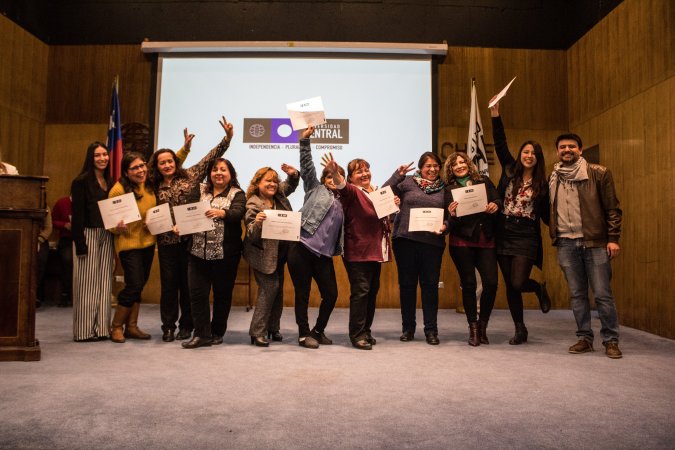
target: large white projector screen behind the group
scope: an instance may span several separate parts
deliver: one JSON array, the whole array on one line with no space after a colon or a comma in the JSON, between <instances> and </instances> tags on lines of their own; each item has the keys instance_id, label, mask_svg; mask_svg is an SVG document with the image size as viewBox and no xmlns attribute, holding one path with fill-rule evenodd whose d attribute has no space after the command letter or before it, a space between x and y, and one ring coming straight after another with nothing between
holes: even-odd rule
<instances>
[{"instance_id":1,"label":"large white projector screen behind the group","mask_svg":"<svg viewBox=\"0 0 675 450\"><path fill-rule=\"evenodd\" d=\"M297 133L286 104L320 96L327 126L312 137L320 175L321 155L331 152L346 168L354 158L370 163L374 185L401 164L432 150L431 60L345 57L159 58L155 148L178 150L183 128L196 135L184 167L223 137L225 116L234 138L225 158L244 190L257 169L281 164L300 169ZM289 197L302 206L304 189Z\"/></svg>"}]
</instances>

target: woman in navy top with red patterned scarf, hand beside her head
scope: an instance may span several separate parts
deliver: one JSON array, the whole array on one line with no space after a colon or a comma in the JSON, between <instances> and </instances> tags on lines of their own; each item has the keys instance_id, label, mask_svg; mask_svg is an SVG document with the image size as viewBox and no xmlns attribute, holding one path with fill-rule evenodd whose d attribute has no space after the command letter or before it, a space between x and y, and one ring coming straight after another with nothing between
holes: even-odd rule
<instances>
[{"instance_id":1,"label":"woman in navy top with red patterned scarf, hand beside her head","mask_svg":"<svg viewBox=\"0 0 675 450\"><path fill-rule=\"evenodd\" d=\"M412 208L441 208L448 206L445 183L441 179L441 159L432 152L425 152L417 162L414 174L412 164L400 166L384 183L391 186L400 200L401 211L394 219L391 240L398 270L398 286L401 302L402 342L415 338L415 309L417 285L422 293L424 335L430 345L438 345L438 280L445 249L445 225L437 232L408 231Z\"/></svg>"}]
</instances>

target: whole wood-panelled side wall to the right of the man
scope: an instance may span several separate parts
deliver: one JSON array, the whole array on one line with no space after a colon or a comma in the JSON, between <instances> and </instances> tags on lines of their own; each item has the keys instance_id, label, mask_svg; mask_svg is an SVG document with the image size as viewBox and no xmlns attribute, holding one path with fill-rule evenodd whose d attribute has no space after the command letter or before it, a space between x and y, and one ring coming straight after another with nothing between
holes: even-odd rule
<instances>
[{"instance_id":1,"label":"whole wood-panelled side wall to the right of the man","mask_svg":"<svg viewBox=\"0 0 675 450\"><path fill-rule=\"evenodd\" d=\"M630 0L568 52L570 121L623 209L613 288L625 325L675 338L675 6Z\"/></svg>"}]
</instances>

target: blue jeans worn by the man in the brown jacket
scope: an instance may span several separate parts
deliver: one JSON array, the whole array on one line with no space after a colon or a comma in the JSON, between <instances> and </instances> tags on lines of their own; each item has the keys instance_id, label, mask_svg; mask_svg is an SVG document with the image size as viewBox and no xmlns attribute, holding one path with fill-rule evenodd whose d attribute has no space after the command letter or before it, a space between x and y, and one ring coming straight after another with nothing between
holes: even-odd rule
<instances>
[{"instance_id":1,"label":"blue jeans worn by the man in the brown jacket","mask_svg":"<svg viewBox=\"0 0 675 450\"><path fill-rule=\"evenodd\" d=\"M570 306L577 321L577 337L593 342L591 304L588 288L593 290L600 316L603 342L619 341L619 317L610 282L612 266L605 247L584 247L583 239L558 241L558 264L570 290Z\"/></svg>"}]
</instances>

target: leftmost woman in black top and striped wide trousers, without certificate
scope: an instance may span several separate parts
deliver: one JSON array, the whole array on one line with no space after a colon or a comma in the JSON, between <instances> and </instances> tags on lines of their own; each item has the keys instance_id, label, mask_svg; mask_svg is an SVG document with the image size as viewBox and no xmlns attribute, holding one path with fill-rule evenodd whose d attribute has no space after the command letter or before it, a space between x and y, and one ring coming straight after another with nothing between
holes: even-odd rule
<instances>
[{"instance_id":1,"label":"leftmost woman in black top and striped wide trousers, without certificate","mask_svg":"<svg viewBox=\"0 0 675 450\"><path fill-rule=\"evenodd\" d=\"M98 201L108 198L113 185L108 165L108 148L92 142L87 148L80 174L70 186L73 199L73 340L106 339L110 334L112 293L112 235L103 228Z\"/></svg>"}]
</instances>

